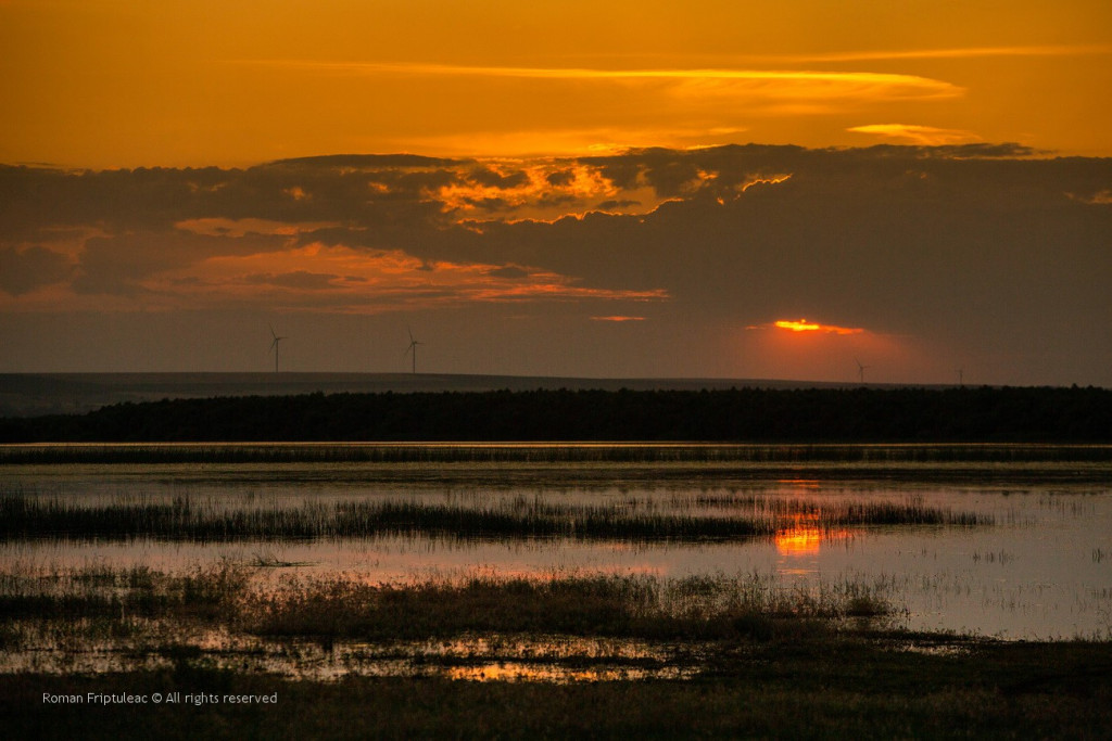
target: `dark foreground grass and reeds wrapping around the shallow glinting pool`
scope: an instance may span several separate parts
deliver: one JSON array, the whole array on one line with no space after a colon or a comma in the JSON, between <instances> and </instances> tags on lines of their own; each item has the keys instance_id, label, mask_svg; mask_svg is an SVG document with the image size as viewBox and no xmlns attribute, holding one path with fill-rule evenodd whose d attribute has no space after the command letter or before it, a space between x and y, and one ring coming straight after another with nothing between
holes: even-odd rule
<instances>
[{"instance_id":1,"label":"dark foreground grass and reeds wrapping around the shallow glinting pool","mask_svg":"<svg viewBox=\"0 0 1112 741\"><path fill-rule=\"evenodd\" d=\"M217 669L203 651L172 650L171 637L161 652L172 663L157 671L0 674L3 737L981 739L1109 738L1112 729L1112 642L1005 644L854 627L844 619L891 607L877 590L853 584L806 594L755 577L477 577L397 585L336 577L278 579L260 590L250 573L231 563L188 574L13 572L0 618L122 622L139 610L276 641L510 631L641 637L699 647L686 659L698 672L569 684L356 675L320 682ZM21 604L24 598L37 602ZM199 693L205 703L188 699ZM103 695L133 702L106 704ZM234 703L232 695L255 701Z\"/></svg>"}]
</instances>

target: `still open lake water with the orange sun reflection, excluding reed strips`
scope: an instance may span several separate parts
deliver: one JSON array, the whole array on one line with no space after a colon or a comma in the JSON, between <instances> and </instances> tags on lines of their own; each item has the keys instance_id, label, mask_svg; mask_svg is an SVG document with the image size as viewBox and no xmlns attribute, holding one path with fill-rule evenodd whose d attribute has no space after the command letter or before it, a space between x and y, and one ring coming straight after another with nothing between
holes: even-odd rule
<instances>
[{"instance_id":1,"label":"still open lake water with the orange sun reflection, excluding reed strips","mask_svg":"<svg viewBox=\"0 0 1112 741\"><path fill-rule=\"evenodd\" d=\"M95 541L70 534L0 541L0 571L90 565L187 570L220 559L268 574L344 574L370 582L476 573L761 574L785 590L844 582L877 588L913 630L1003 639L1112 638L1110 475L873 475L801 467L565 463L8 465L0 497L75 507L188 500L209 511L405 501L476 509L543 502L622 512L744 517L770 537L624 539L377 534L358 539ZM999 473L999 470L996 471ZM1091 473L1091 472L1090 472ZM1045 481L1051 481L1046 483ZM1040 481L1043 481L1040 483ZM821 524L815 513L868 503L980 515L983 524Z\"/></svg>"}]
</instances>

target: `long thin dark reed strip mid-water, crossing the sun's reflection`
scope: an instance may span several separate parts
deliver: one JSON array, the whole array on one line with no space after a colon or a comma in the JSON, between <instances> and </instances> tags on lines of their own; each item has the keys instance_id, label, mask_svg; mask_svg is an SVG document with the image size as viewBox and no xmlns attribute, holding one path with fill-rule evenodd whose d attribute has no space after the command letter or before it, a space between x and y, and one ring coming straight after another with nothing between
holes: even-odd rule
<instances>
[{"instance_id":1,"label":"long thin dark reed strip mid-water, crossing the sun's reflection","mask_svg":"<svg viewBox=\"0 0 1112 741\"><path fill-rule=\"evenodd\" d=\"M628 541L745 540L775 534L801 515L815 527L957 525L991 523L972 512L922 502L841 503L777 500L753 515L715 517L639 509L636 503L547 503L516 499L486 507L406 501L306 501L300 505L218 508L188 497L171 502L120 501L82 505L71 500L13 494L0 498L0 541L151 538L196 542L358 539L423 534L460 539L576 539Z\"/></svg>"}]
</instances>

